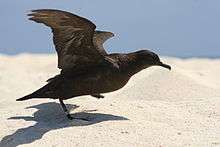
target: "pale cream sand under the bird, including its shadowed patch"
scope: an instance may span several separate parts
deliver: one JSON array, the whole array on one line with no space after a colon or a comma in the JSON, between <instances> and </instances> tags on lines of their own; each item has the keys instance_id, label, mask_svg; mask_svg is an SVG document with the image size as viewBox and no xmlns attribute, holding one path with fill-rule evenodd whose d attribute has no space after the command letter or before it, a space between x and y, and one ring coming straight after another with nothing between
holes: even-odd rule
<instances>
[{"instance_id":1,"label":"pale cream sand under the bird, including its shadowed patch","mask_svg":"<svg viewBox=\"0 0 220 147\"><path fill-rule=\"evenodd\" d=\"M0 146L220 146L220 60L163 58L121 90L97 100L69 99L69 121L57 101L16 102L59 70L55 55L0 56Z\"/></svg>"}]
</instances>

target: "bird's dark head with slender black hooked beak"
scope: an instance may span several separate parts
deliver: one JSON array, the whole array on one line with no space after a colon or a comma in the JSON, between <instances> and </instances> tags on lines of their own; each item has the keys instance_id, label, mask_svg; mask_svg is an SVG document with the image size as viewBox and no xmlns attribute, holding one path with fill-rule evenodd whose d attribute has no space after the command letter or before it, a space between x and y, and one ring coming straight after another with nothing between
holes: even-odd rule
<instances>
[{"instance_id":1,"label":"bird's dark head with slender black hooked beak","mask_svg":"<svg viewBox=\"0 0 220 147\"><path fill-rule=\"evenodd\" d=\"M142 66L143 68L147 68L150 66L162 66L171 70L170 65L161 62L159 56L149 50L140 50L135 52L134 55L136 57L137 64Z\"/></svg>"}]
</instances>

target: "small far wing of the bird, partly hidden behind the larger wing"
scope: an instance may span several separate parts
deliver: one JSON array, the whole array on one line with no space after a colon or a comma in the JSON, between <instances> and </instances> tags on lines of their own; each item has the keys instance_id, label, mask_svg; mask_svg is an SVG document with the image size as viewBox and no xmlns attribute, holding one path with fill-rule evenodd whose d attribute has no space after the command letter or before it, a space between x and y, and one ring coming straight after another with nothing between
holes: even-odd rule
<instances>
[{"instance_id":1,"label":"small far wing of the bird, partly hidden behind the larger wing","mask_svg":"<svg viewBox=\"0 0 220 147\"><path fill-rule=\"evenodd\" d=\"M104 31L95 31L93 36L93 44L95 48L101 53L102 55L107 55L107 52L105 51L103 44L106 40L109 38L112 38L114 34L112 32L104 32Z\"/></svg>"}]
</instances>

